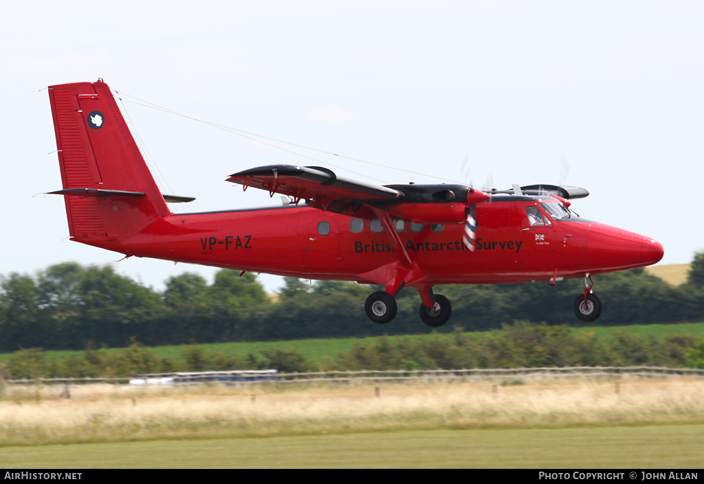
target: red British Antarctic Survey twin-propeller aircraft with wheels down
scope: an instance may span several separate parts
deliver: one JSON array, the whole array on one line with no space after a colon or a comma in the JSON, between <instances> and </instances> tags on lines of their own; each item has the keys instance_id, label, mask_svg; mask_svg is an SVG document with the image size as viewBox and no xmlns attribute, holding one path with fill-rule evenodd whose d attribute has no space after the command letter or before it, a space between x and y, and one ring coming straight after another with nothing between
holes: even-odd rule
<instances>
[{"instance_id":1,"label":"red British Antarctic Survey twin-propeller aircraft with wheels down","mask_svg":"<svg viewBox=\"0 0 704 484\"><path fill-rule=\"evenodd\" d=\"M102 80L49 87L71 240L155 257L305 279L379 284L365 304L384 324L394 295L418 291L420 318L441 326L450 301L436 284L513 284L583 278L582 321L601 303L591 276L655 264L649 237L583 219L572 186L513 186L484 193L459 184L376 186L322 167L271 165L227 181L289 196L289 205L175 214Z\"/></svg>"}]
</instances>

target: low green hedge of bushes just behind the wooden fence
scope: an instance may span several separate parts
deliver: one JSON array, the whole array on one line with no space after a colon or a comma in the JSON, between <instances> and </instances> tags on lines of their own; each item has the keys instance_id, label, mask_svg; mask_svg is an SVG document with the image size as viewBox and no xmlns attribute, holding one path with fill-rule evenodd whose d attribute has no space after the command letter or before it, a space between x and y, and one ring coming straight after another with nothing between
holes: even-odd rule
<instances>
[{"instance_id":1,"label":"low green hedge of bushes just behind the wooden fence","mask_svg":"<svg viewBox=\"0 0 704 484\"><path fill-rule=\"evenodd\" d=\"M136 376L174 371L277 369L285 373L318 370L465 369L572 366L704 368L704 338L671 335L663 340L627 331L613 340L568 326L515 321L503 330L477 336L455 326L453 333L425 338L359 340L348 352L314 362L295 348L229 354L189 345L180 357L157 355L132 341L122 350L85 350L82 355L48 357L38 348L19 350L0 364L5 378Z\"/></svg>"}]
</instances>

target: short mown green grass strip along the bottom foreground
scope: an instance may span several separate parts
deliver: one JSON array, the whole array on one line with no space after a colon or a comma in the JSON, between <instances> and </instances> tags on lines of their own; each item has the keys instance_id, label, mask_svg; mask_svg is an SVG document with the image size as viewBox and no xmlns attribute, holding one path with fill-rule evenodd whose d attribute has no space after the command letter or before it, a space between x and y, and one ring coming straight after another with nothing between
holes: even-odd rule
<instances>
[{"instance_id":1,"label":"short mown green grass strip along the bottom foreground","mask_svg":"<svg viewBox=\"0 0 704 484\"><path fill-rule=\"evenodd\" d=\"M671 425L5 447L0 467L698 469L702 455L704 425Z\"/></svg>"}]
</instances>

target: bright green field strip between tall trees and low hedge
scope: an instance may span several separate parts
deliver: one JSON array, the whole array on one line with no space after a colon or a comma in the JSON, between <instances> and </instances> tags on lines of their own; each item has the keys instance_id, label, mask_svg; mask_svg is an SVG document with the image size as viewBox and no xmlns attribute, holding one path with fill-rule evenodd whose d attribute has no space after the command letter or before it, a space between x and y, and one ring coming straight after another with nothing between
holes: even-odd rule
<instances>
[{"instance_id":1,"label":"bright green field strip between tall trees and low hedge","mask_svg":"<svg viewBox=\"0 0 704 484\"><path fill-rule=\"evenodd\" d=\"M664 339L665 336L671 334L693 334L695 336L704 337L704 322L702 323L678 323L678 324L634 324L630 326L591 326L584 328L577 328L575 331L582 332L593 332L597 336L605 340L612 340L615 337L617 331L627 331L629 333L636 333L641 336L655 336L658 339ZM479 338L486 338L491 336L494 331L484 331L474 333ZM447 338L451 338L451 335L442 335ZM432 338L431 335L409 335L409 336L386 336L389 340L396 340L399 338ZM378 337L374 338L327 338L327 339L308 339L308 340L289 340L289 341L265 341L265 342L251 342L251 343L206 343L201 346L203 348L209 348L211 350L225 352L228 354L234 353L249 353L253 352L259 359L263 358L260 350L268 348L296 348L298 352L308 357L315 362L324 362L326 357L333 358L337 357L340 352L350 351L353 345L358 343L372 344L377 340ZM178 359L182 358L182 350L186 345L174 345L174 346L156 346L150 348L153 352L161 356L170 356ZM119 351L119 348L113 348L107 350ZM49 357L64 357L68 355L81 356L83 354L80 350L61 350L61 351L47 351L46 355ZM12 353L0 354L0 362L6 362Z\"/></svg>"}]
</instances>

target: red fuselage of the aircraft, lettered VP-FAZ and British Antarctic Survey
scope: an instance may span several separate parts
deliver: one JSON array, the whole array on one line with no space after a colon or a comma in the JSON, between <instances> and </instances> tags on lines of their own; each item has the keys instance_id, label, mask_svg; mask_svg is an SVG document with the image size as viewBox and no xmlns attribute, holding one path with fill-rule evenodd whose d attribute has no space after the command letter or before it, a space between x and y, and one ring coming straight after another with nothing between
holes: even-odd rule
<instances>
[{"instance_id":1,"label":"red fuselage of the aircraft, lettered VP-FAZ and British Antarctic Survey","mask_svg":"<svg viewBox=\"0 0 704 484\"><path fill-rule=\"evenodd\" d=\"M430 284L491 284L565 279L655 264L660 243L629 231L572 216L531 226L526 207L558 203L551 197L493 196L476 208L476 250L463 244L463 224L397 226L406 252ZM549 217L549 218L548 218ZM358 274L398 260L385 231L371 220L353 233L355 217L306 206L232 210L158 219L129 238L75 238L127 255L156 257L306 279L370 282ZM359 220L359 219L358 219ZM320 222L329 233L320 234ZM434 231L438 230L438 231Z\"/></svg>"}]
</instances>

